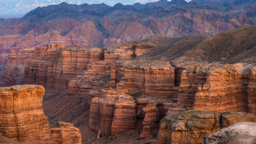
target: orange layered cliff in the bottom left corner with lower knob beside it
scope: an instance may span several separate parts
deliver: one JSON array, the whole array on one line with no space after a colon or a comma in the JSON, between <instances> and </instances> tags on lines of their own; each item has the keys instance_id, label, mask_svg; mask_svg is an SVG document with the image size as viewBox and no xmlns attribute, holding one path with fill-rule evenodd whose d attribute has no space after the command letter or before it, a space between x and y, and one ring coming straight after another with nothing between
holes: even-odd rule
<instances>
[{"instance_id":1,"label":"orange layered cliff in the bottom left corner with lower knob beside it","mask_svg":"<svg viewBox=\"0 0 256 144\"><path fill-rule=\"evenodd\" d=\"M81 143L80 132L72 124L60 123L54 131L65 141L52 134L42 109L43 95L44 87L39 85L1 87L0 134L21 143Z\"/></svg>"}]
</instances>

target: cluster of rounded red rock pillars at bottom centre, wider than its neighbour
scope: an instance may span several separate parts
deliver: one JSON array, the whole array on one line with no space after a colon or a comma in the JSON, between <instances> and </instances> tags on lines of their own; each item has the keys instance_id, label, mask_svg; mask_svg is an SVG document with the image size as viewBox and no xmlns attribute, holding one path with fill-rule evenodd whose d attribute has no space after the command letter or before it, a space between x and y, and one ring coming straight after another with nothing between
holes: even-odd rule
<instances>
[{"instance_id":1,"label":"cluster of rounded red rock pillars at bottom centre, wider than its neighbour","mask_svg":"<svg viewBox=\"0 0 256 144\"><path fill-rule=\"evenodd\" d=\"M89 128L101 130L101 136L117 135L133 129L136 123L136 103L125 89L102 90L103 98L92 99Z\"/></svg>"}]
</instances>

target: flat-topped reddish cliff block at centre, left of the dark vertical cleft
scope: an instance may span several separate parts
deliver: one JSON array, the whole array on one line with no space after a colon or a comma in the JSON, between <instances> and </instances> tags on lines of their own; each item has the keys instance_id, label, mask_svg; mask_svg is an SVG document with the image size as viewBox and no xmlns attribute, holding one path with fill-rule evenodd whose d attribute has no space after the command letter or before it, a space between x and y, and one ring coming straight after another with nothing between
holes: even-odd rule
<instances>
[{"instance_id":1,"label":"flat-topped reddish cliff block at centre, left of the dark vertical cleft","mask_svg":"<svg viewBox=\"0 0 256 144\"><path fill-rule=\"evenodd\" d=\"M148 95L172 95L174 93L174 68L168 61L117 62L119 83L125 87L136 87Z\"/></svg>"}]
</instances>

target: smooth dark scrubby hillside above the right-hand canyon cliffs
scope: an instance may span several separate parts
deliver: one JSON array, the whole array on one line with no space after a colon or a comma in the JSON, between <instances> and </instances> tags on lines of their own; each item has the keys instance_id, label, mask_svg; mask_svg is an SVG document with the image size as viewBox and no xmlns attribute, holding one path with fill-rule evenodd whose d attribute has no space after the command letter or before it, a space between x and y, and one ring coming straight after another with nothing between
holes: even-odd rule
<instances>
[{"instance_id":1,"label":"smooth dark scrubby hillside above the right-hand canyon cliffs","mask_svg":"<svg viewBox=\"0 0 256 144\"><path fill-rule=\"evenodd\" d=\"M255 63L256 25L243 24L235 30L212 37L192 35L183 37L150 36L143 42L156 44L134 61L167 60L175 66L220 62L223 64ZM177 40L180 41L177 42Z\"/></svg>"}]
</instances>

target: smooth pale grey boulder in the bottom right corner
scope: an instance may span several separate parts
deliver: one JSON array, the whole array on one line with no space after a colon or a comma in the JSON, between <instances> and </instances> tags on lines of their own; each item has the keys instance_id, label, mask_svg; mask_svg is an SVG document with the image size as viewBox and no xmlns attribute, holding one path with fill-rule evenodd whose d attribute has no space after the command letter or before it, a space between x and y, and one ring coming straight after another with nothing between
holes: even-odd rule
<instances>
[{"instance_id":1,"label":"smooth pale grey boulder in the bottom right corner","mask_svg":"<svg viewBox=\"0 0 256 144\"><path fill-rule=\"evenodd\" d=\"M242 122L230 125L204 137L204 143L254 144L256 143L256 123Z\"/></svg>"}]
</instances>

